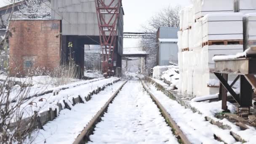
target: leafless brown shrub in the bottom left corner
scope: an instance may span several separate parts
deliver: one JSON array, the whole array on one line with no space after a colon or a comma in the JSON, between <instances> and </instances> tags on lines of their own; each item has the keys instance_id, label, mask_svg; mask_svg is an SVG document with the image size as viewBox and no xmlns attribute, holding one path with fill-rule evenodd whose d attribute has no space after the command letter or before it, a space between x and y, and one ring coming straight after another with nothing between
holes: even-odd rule
<instances>
[{"instance_id":1,"label":"leafless brown shrub in the bottom left corner","mask_svg":"<svg viewBox=\"0 0 256 144\"><path fill-rule=\"evenodd\" d=\"M25 85L25 82L22 85ZM13 94L13 91L16 93ZM0 141L2 144L33 141L31 134L36 128L37 114L29 105L22 107L27 102L29 91L29 87L17 88L10 77L0 84Z\"/></svg>"}]
</instances>

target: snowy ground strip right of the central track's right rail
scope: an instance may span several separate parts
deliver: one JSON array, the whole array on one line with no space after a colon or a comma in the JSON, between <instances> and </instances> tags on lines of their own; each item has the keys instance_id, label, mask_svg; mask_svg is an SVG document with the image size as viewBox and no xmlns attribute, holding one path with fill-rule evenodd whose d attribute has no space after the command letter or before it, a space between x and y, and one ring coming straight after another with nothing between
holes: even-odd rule
<instances>
[{"instance_id":1,"label":"snowy ground strip right of the central track's right rail","mask_svg":"<svg viewBox=\"0 0 256 144\"><path fill-rule=\"evenodd\" d=\"M165 107L193 144L223 144L223 142L225 144L239 144L245 141L249 144L256 143L255 128L248 126L248 129L242 130L226 118L215 117L216 114L222 112L221 104L219 104L221 101L188 103L176 94L169 94L170 91L166 90L168 87L165 89L161 83L155 80L152 82L147 83L149 91ZM172 93L175 92L172 91ZM228 107L233 109L234 106L229 104Z\"/></svg>"}]
</instances>

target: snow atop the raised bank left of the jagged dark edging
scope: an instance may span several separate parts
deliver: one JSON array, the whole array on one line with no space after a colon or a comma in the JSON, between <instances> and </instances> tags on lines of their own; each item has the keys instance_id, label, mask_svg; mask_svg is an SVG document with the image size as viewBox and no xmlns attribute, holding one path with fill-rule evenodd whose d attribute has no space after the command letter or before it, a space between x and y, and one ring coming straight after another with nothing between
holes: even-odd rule
<instances>
[{"instance_id":1,"label":"snow atop the raised bank left of the jagged dark edging","mask_svg":"<svg viewBox=\"0 0 256 144\"><path fill-rule=\"evenodd\" d=\"M84 97L88 96L88 94L91 91L97 89L98 87L102 87L102 86L106 85L107 83L112 83L113 81L118 80L118 79L119 78L117 78L117 77L111 77L108 79L102 79L102 80L94 81L91 83L85 83L83 85L79 85L76 87L71 87L69 89L62 90L56 96L53 96L53 93L48 93L43 96L31 98L28 101L26 101L24 104L21 105L21 110L22 110L22 112L24 112L23 118L31 116L34 111L38 111L40 114L41 112L44 112L44 111L48 110L49 108L52 108L52 109L57 108L58 109L58 107L57 107L58 103L61 103L64 107L63 100L65 100L69 104L69 107L72 107L72 104L71 104L72 98L77 98L78 96L81 96L83 101L85 101ZM42 98L43 98L43 101L39 101ZM31 101L36 102L37 103L36 106L29 105L29 103ZM15 103L12 103L12 104L15 104Z\"/></svg>"}]
</instances>

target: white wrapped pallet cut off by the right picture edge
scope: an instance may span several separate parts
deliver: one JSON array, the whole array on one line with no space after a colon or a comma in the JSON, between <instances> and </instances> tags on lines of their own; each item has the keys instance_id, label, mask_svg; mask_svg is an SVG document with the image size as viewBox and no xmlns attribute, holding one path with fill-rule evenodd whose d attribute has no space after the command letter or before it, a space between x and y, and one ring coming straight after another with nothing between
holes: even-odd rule
<instances>
[{"instance_id":1,"label":"white wrapped pallet cut off by the right picture edge","mask_svg":"<svg viewBox=\"0 0 256 144\"><path fill-rule=\"evenodd\" d=\"M256 53L256 13L248 13L244 16L244 48L251 48L248 54Z\"/></svg>"}]
</instances>

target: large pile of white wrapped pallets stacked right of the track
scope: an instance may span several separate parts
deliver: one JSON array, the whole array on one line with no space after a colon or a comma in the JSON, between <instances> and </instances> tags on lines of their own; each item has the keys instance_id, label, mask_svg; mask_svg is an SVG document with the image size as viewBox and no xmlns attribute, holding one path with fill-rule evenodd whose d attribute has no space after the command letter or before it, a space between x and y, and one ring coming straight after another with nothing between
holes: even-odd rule
<instances>
[{"instance_id":1,"label":"large pile of white wrapped pallets stacked right of the track","mask_svg":"<svg viewBox=\"0 0 256 144\"><path fill-rule=\"evenodd\" d=\"M242 1L194 0L194 5L181 10L179 92L194 96L218 93L218 79L212 73L215 67L213 56L242 53L244 45L256 45L256 14L243 18L243 13L234 12L249 5L245 2L249 0ZM240 3L240 9L235 7L235 2ZM193 16L191 11L194 11ZM235 77L229 77L232 79Z\"/></svg>"}]
</instances>

